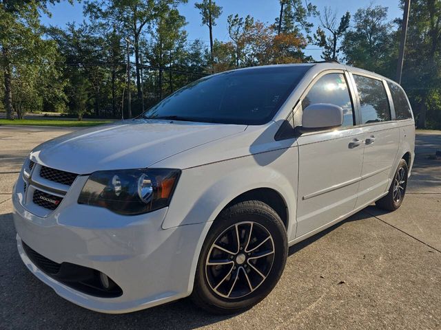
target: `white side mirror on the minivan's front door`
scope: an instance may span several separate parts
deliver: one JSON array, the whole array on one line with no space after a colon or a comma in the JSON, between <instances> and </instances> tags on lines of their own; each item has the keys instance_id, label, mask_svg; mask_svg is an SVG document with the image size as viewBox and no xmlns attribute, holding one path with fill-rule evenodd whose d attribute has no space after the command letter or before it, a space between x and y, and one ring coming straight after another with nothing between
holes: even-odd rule
<instances>
[{"instance_id":1,"label":"white side mirror on the minivan's front door","mask_svg":"<svg viewBox=\"0 0 441 330\"><path fill-rule=\"evenodd\" d=\"M343 123L343 109L329 103L311 104L303 109L302 129L313 131L331 129Z\"/></svg>"}]
</instances>

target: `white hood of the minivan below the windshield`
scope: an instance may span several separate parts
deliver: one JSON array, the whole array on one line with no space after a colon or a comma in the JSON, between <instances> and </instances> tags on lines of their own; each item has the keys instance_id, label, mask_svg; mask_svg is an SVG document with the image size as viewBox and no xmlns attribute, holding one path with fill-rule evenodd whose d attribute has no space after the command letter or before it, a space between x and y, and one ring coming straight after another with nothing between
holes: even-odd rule
<instances>
[{"instance_id":1,"label":"white hood of the minivan below the windshield","mask_svg":"<svg viewBox=\"0 0 441 330\"><path fill-rule=\"evenodd\" d=\"M34 148L30 158L44 166L78 174L146 168L246 128L246 125L125 120L57 137Z\"/></svg>"}]
</instances>

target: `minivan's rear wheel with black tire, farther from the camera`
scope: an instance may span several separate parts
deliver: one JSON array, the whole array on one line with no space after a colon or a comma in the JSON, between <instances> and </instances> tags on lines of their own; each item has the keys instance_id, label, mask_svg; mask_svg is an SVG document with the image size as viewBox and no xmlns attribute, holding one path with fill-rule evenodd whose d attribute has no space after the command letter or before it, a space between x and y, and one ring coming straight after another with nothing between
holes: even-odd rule
<instances>
[{"instance_id":1,"label":"minivan's rear wheel with black tire, farther from the camera","mask_svg":"<svg viewBox=\"0 0 441 330\"><path fill-rule=\"evenodd\" d=\"M404 195L406 194L408 172L409 168L407 167L407 162L404 159L401 159L398 163L396 173L393 175L393 181L389 188L389 193L375 202L378 208L395 211L401 206Z\"/></svg>"}]
</instances>

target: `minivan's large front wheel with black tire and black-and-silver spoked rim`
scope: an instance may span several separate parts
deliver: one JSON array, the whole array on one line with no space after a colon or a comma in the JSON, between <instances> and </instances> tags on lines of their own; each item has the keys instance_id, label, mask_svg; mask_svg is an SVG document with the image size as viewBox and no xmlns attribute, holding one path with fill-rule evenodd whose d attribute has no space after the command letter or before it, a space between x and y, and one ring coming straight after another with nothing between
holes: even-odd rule
<instances>
[{"instance_id":1,"label":"minivan's large front wheel with black tire and black-and-silver spoked rim","mask_svg":"<svg viewBox=\"0 0 441 330\"><path fill-rule=\"evenodd\" d=\"M227 207L205 238L193 302L211 314L253 307L278 283L287 252L285 225L267 204L241 201Z\"/></svg>"}]
</instances>

